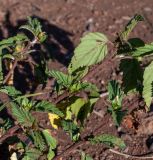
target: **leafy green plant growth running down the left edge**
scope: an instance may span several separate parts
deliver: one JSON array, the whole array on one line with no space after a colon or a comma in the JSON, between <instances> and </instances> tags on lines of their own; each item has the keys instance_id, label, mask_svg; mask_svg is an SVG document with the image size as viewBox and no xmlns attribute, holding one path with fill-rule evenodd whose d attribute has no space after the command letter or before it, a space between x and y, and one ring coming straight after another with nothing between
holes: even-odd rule
<instances>
[{"instance_id":1,"label":"leafy green plant growth running down the left edge","mask_svg":"<svg viewBox=\"0 0 153 160\"><path fill-rule=\"evenodd\" d=\"M47 111L62 114L55 106L48 102L36 102L29 100L26 96L22 96L13 86L9 85L17 62L24 61L29 58L29 54L35 52L34 45L41 44L46 39L46 33L42 31L40 22L34 18L28 18L28 24L21 26L20 29L26 29L33 34L32 39L24 33L19 33L14 37L4 39L0 42L0 92L9 96L9 101L1 105L10 111L7 118L1 118L1 136L4 142L8 138L12 138L15 143L12 156L15 159L22 157L23 160L39 159L46 153L46 159L52 159L55 155L54 150L57 141L51 135L48 129L42 129L38 120L33 116L34 111ZM7 60L7 65L4 63ZM2 65L8 67L8 74L5 76ZM11 83L12 84L12 83ZM10 134L9 131L20 128L19 135L17 133ZM13 131L12 131L13 132ZM21 133L20 133L21 132ZM6 138L5 138L6 137ZM12 144L12 142L8 142ZM16 154L17 153L17 154Z\"/></svg>"}]
</instances>

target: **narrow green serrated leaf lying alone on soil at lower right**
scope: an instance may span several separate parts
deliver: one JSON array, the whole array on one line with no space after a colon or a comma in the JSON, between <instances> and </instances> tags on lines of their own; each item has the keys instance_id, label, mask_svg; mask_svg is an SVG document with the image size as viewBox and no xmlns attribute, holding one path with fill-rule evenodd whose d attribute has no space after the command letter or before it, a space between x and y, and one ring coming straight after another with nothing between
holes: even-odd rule
<instances>
[{"instance_id":1,"label":"narrow green serrated leaf lying alone on soil at lower right","mask_svg":"<svg viewBox=\"0 0 153 160\"><path fill-rule=\"evenodd\" d=\"M99 136L95 136L94 138L90 138L89 141L92 144L104 143L110 147L119 147L120 149L125 149L126 145L121 138L110 134L101 134Z\"/></svg>"}]
</instances>

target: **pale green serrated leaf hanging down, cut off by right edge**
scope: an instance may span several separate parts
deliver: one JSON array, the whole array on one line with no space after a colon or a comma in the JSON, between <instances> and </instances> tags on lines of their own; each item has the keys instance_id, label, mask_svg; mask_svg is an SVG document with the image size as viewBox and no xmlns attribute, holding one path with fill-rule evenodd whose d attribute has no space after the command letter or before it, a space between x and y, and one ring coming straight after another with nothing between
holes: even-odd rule
<instances>
[{"instance_id":1,"label":"pale green serrated leaf hanging down, cut off by right edge","mask_svg":"<svg viewBox=\"0 0 153 160\"><path fill-rule=\"evenodd\" d=\"M153 97L153 62L151 62L144 70L143 75L143 98L147 107L150 107Z\"/></svg>"}]
</instances>

